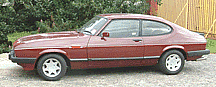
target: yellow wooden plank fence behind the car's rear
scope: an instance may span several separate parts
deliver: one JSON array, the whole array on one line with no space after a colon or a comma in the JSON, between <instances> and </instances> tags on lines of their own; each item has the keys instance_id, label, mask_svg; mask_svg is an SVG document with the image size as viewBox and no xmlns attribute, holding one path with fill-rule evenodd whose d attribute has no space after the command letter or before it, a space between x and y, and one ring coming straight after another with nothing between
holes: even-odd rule
<instances>
[{"instance_id":1,"label":"yellow wooden plank fence behind the car's rear","mask_svg":"<svg viewBox=\"0 0 216 87\"><path fill-rule=\"evenodd\" d=\"M216 0L162 0L158 16L216 39Z\"/></svg>"}]
</instances>

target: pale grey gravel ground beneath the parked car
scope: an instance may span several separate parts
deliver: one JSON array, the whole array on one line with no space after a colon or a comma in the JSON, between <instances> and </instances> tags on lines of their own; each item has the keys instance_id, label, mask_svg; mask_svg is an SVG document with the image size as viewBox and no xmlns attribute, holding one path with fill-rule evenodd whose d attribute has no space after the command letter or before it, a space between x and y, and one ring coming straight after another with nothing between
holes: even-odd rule
<instances>
[{"instance_id":1,"label":"pale grey gravel ground beneath the parked car","mask_svg":"<svg viewBox=\"0 0 216 87\"><path fill-rule=\"evenodd\" d=\"M187 61L178 75L164 75L154 66L85 69L69 70L59 81L44 81L35 70L24 71L9 61L7 55L0 55L0 86L216 86L216 54L210 54L202 61Z\"/></svg>"}]
</instances>

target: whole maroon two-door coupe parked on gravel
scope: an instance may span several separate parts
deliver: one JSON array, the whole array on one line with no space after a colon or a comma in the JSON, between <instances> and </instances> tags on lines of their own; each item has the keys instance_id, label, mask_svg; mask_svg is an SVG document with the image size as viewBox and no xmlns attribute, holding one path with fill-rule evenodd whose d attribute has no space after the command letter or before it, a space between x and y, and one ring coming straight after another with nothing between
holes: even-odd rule
<instances>
[{"instance_id":1,"label":"whole maroon two-door coupe parked on gravel","mask_svg":"<svg viewBox=\"0 0 216 87\"><path fill-rule=\"evenodd\" d=\"M101 14L76 31L25 36L9 59L45 80L59 80L70 69L158 65L177 74L185 60L209 54L206 39L160 17Z\"/></svg>"}]
</instances>

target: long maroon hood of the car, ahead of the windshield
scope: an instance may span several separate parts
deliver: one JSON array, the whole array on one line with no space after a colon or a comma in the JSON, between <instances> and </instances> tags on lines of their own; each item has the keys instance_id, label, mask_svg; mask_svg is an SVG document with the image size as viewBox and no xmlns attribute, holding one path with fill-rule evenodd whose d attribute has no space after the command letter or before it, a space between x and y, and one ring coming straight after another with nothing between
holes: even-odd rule
<instances>
[{"instance_id":1,"label":"long maroon hood of the car, ahead of the windshield","mask_svg":"<svg viewBox=\"0 0 216 87\"><path fill-rule=\"evenodd\" d=\"M14 48L68 46L74 43L84 43L88 41L88 38L89 35L75 31L42 33L21 37L14 42L13 46Z\"/></svg>"}]
</instances>

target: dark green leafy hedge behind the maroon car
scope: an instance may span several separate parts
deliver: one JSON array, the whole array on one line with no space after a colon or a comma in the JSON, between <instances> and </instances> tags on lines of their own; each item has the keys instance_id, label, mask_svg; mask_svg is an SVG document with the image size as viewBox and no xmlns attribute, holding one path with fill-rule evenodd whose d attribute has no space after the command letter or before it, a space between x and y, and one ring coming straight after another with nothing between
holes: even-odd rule
<instances>
[{"instance_id":1,"label":"dark green leafy hedge behind the maroon car","mask_svg":"<svg viewBox=\"0 0 216 87\"><path fill-rule=\"evenodd\" d=\"M103 13L146 14L150 7L148 1L0 0L0 46L3 43L6 44L8 33L74 30L95 15ZM157 2L161 4L161 0ZM9 4L3 6L4 3Z\"/></svg>"}]
</instances>

